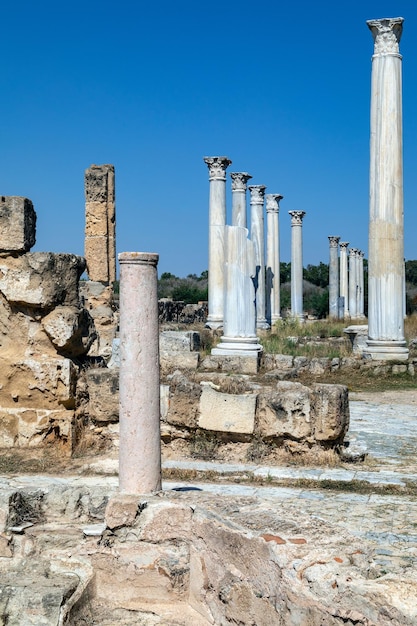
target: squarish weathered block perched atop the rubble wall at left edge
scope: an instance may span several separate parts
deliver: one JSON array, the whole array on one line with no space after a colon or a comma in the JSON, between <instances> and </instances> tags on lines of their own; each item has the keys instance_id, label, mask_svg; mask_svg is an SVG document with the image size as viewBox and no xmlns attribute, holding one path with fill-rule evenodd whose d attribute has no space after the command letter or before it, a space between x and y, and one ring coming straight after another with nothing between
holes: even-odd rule
<instances>
[{"instance_id":1,"label":"squarish weathered block perched atop the rubble wall at left edge","mask_svg":"<svg viewBox=\"0 0 417 626\"><path fill-rule=\"evenodd\" d=\"M36 213L21 196L0 196L0 253L27 252L36 241Z\"/></svg>"}]
</instances>

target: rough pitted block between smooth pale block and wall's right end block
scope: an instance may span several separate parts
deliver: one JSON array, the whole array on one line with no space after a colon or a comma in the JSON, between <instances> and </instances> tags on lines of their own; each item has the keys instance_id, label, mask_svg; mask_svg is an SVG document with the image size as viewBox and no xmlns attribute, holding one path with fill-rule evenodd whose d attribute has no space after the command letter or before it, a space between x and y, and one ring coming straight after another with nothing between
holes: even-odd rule
<instances>
[{"instance_id":1,"label":"rough pitted block between smooth pale block and wall's right end block","mask_svg":"<svg viewBox=\"0 0 417 626\"><path fill-rule=\"evenodd\" d=\"M259 395L257 419L262 437L310 437L310 389L301 383L279 382L276 391Z\"/></svg>"}]
</instances>

